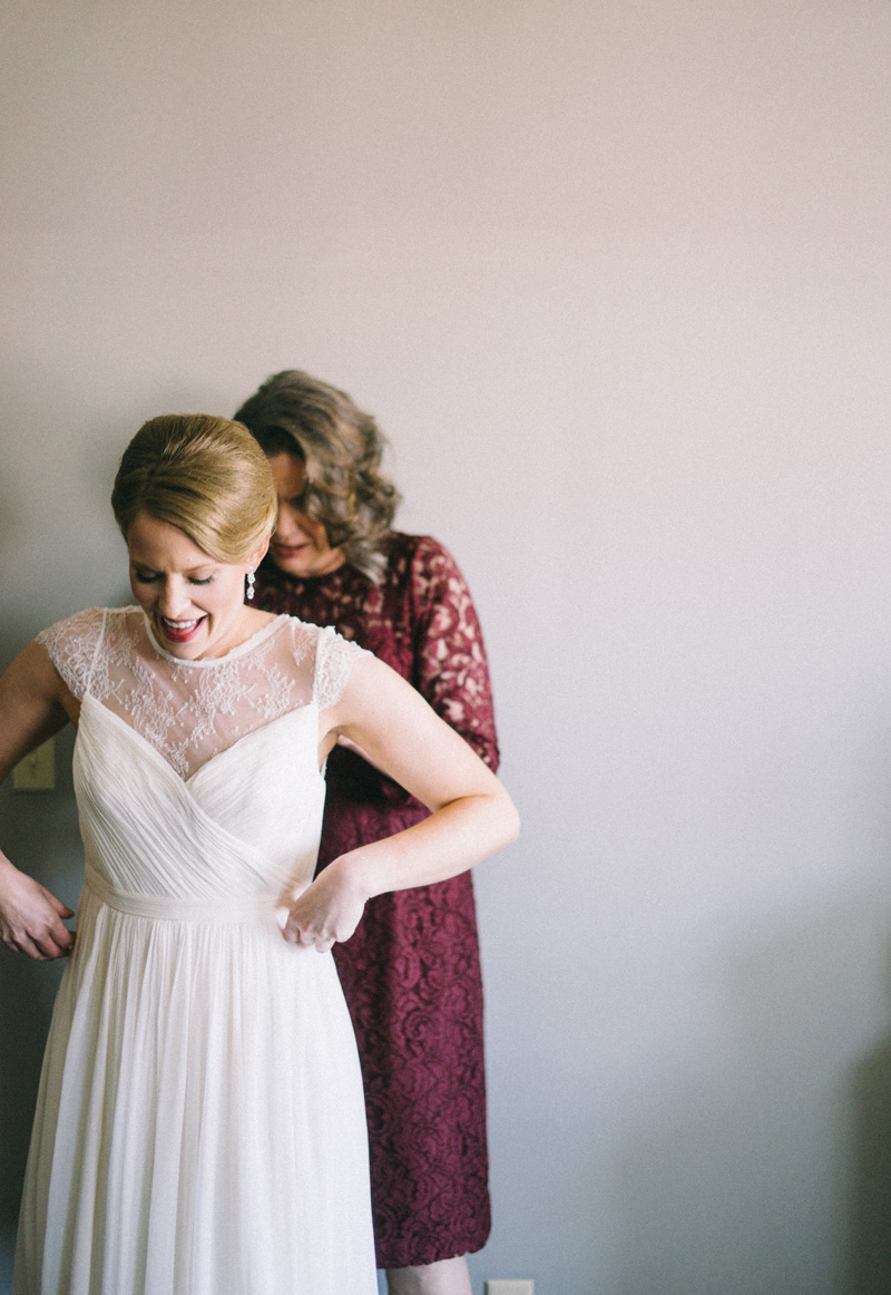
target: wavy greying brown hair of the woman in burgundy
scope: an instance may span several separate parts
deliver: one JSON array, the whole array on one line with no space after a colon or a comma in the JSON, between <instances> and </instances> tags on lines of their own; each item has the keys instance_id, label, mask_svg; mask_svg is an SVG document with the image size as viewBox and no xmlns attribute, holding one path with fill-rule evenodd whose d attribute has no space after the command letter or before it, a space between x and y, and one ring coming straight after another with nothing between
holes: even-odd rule
<instances>
[{"instance_id":1,"label":"wavy greying brown hair of the woman in burgundy","mask_svg":"<svg viewBox=\"0 0 891 1295\"><path fill-rule=\"evenodd\" d=\"M271 457L286 452L303 460L306 486L297 506L377 584L400 496L378 471L387 442L374 418L346 391L300 369L268 378L236 418Z\"/></svg>"}]
</instances>

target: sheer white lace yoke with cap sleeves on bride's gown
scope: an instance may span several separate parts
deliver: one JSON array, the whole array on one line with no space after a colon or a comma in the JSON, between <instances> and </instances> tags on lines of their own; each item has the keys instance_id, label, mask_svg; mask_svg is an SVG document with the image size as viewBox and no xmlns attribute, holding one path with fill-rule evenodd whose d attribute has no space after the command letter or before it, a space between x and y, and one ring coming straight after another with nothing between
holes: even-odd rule
<instances>
[{"instance_id":1,"label":"sheer white lace yoke with cap sleeves on bride's gown","mask_svg":"<svg viewBox=\"0 0 891 1295\"><path fill-rule=\"evenodd\" d=\"M330 628L282 615L225 657L181 660L139 607L80 611L38 642L78 701L102 702L184 778L290 711L333 706L361 654Z\"/></svg>"}]
</instances>

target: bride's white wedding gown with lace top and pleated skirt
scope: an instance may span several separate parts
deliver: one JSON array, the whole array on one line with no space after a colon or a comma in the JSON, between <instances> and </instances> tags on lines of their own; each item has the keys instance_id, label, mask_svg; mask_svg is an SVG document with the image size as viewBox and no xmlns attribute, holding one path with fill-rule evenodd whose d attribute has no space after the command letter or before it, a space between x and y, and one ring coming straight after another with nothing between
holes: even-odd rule
<instances>
[{"instance_id":1,"label":"bride's white wedding gown with lace top and pleated skirt","mask_svg":"<svg viewBox=\"0 0 891 1295\"><path fill-rule=\"evenodd\" d=\"M82 698L85 852L13 1295L376 1295L361 1077L330 953L285 943L319 711L359 650L280 616L180 662L139 609L40 636Z\"/></svg>"}]
</instances>

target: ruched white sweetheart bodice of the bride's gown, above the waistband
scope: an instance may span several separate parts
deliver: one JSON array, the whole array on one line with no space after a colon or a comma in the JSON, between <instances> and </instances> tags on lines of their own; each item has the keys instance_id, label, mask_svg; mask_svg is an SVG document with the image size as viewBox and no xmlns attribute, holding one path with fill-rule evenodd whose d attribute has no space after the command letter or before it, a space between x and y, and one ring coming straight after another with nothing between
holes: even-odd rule
<instances>
[{"instance_id":1,"label":"ruched white sweetheart bodice of the bride's gown, above the waistband","mask_svg":"<svg viewBox=\"0 0 891 1295\"><path fill-rule=\"evenodd\" d=\"M184 780L124 720L84 697L74 780L88 877L136 894L285 903L312 879L319 850L317 730L310 703Z\"/></svg>"}]
</instances>

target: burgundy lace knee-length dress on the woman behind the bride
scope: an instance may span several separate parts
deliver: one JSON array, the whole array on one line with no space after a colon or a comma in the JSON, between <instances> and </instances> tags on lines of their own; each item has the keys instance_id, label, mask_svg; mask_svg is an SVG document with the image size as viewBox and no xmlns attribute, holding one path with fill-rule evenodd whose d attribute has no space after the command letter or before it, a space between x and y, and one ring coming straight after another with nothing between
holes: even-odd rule
<instances>
[{"instance_id":1,"label":"burgundy lace knee-length dress on the woman behind the bride","mask_svg":"<svg viewBox=\"0 0 891 1295\"><path fill-rule=\"evenodd\" d=\"M435 540L394 534L378 585L348 566L298 579L267 562L254 605L335 625L408 679L497 767L479 622L455 559ZM426 813L386 774L337 747L328 760L320 866ZM378 1267L479 1250L491 1216L470 874L370 900L334 956L365 1083Z\"/></svg>"}]
</instances>

